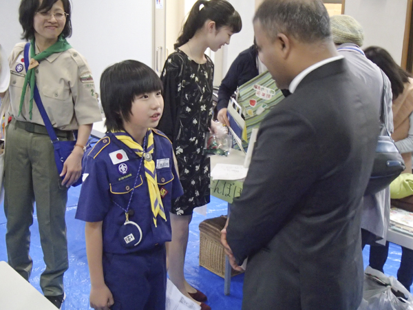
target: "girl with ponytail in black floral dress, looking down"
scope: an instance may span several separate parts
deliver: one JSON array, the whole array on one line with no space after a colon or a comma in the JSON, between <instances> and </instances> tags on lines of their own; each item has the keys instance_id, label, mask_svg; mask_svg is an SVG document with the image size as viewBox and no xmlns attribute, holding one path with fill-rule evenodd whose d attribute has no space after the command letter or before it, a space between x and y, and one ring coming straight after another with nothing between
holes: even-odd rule
<instances>
[{"instance_id":1,"label":"girl with ponytail in black floral dress, looking down","mask_svg":"<svg viewBox=\"0 0 413 310\"><path fill-rule=\"evenodd\" d=\"M172 241L168 249L169 278L185 295L199 302L207 296L184 279L189 223L193 209L209 203L209 158L202 155L204 139L214 130L213 63L204 54L229 44L240 32L240 14L225 0L197 1L162 71L164 113L158 129L173 143L184 195L172 203ZM201 304L202 309L209 309Z\"/></svg>"}]
</instances>

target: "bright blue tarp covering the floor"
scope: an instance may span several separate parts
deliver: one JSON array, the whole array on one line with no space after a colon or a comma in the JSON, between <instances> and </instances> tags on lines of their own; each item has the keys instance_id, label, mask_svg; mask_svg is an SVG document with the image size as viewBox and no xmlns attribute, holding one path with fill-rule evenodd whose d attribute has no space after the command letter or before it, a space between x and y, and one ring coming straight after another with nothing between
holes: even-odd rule
<instances>
[{"instance_id":1,"label":"bright blue tarp covering the floor","mask_svg":"<svg viewBox=\"0 0 413 310\"><path fill-rule=\"evenodd\" d=\"M85 249L85 223L76 220L76 207L81 187L72 187L69 190L66 209L67 239L69 247L70 267L65 273L65 293L67 298L63 303L63 310L89 309L89 270L87 267ZM185 276L192 285L203 291L208 296L208 302L213 310L241 309L242 282L244 274L234 276L231 280L231 295L224 295L224 279L216 276L211 271L199 266L199 225L206 218L214 218L226 214L227 204L223 200L211 196L207 216L194 213L190 225L189 244L185 262ZM34 223L31 227L32 242L30 256L33 259L33 271L30 283L39 291L40 275L45 269L43 254L40 245L39 227L34 214ZM0 260L7 261L6 254L6 216L3 205L0 206ZM370 247L363 251L364 267L368 265ZM386 274L395 276L400 265L401 248L399 245L390 244L389 257L384 267ZM0 292L1 293L1 292Z\"/></svg>"}]
</instances>

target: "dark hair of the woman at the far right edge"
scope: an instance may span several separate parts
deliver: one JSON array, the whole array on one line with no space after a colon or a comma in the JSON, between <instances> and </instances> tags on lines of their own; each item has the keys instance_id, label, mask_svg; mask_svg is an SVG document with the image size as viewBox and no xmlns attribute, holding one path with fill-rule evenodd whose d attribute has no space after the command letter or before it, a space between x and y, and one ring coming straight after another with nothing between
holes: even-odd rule
<instances>
[{"instance_id":1,"label":"dark hair of the woman at the far right edge","mask_svg":"<svg viewBox=\"0 0 413 310\"><path fill-rule=\"evenodd\" d=\"M364 50L364 53L370 61L375 63L388 76L392 84L393 100L396 99L399 94L403 93L403 84L409 81L410 74L403 70L384 48L370 46Z\"/></svg>"}]
</instances>

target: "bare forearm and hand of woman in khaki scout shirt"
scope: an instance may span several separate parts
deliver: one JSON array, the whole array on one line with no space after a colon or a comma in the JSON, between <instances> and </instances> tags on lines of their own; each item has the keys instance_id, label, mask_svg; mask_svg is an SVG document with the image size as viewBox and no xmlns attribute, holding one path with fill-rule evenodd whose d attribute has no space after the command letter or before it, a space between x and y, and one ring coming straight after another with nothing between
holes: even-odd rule
<instances>
[{"instance_id":1,"label":"bare forearm and hand of woman in khaki scout shirt","mask_svg":"<svg viewBox=\"0 0 413 310\"><path fill-rule=\"evenodd\" d=\"M90 132L92 132L92 124L79 125L78 138L72 154L67 157L65 163L63 163L63 170L60 176L65 176L62 181L62 185L70 187L73 183L81 177L82 174L82 157L83 147L89 140Z\"/></svg>"}]
</instances>

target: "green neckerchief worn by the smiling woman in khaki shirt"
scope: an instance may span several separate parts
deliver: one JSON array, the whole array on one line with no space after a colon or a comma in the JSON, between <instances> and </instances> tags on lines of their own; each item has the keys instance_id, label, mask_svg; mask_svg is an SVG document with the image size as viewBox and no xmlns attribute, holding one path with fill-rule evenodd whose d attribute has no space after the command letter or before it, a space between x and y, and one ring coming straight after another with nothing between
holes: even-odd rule
<instances>
[{"instance_id":1,"label":"green neckerchief worn by the smiling woman in khaki shirt","mask_svg":"<svg viewBox=\"0 0 413 310\"><path fill-rule=\"evenodd\" d=\"M40 54L36 55L34 46L35 46L34 39L32 39L32 41L30 41L30 59L34 59L35 61L38 61L39 63L43 61L43 59L46 59L51 54L65 52L65 50L69 50L70 48L72 48L72 46L70 46L70 44L67 43L65 37L63 37L63 34L59 36L56 43L50 46L50 48L47 48L47 50L43 50L43 52L41 52ZM23 108L25 92L29 84L30 85L30 103L29 103L30 119L32 119L34 85L36 85L36 74L34 74L34 68L28 69L28 72L26 72L26 76L25 76L24 84L23 84L23 91L21 92L21 97L20 97L19 114L17 115L17 116L20 115L21 109Z\"/></svg>"}]
</instances>

